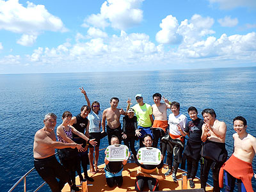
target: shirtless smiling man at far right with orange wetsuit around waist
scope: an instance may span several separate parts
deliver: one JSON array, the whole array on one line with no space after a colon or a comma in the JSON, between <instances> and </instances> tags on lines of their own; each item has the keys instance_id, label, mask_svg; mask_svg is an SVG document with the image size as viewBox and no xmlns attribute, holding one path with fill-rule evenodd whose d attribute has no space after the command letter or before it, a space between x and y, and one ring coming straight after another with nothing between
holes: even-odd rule
<instances>
[{"instance_id":1,"label":"shirtless smiling man at far right with orange wetsuit around waist","mask_svg":"<svg viewBox=\"0 0 256 192\"><path fill-rule=\"evenodd\" d=\"M247 122L243 116L233 120L234 153L221 167L219 179L223 188L223 170L225 170L225 191L234 191L237 179L238 191L253 192L252 188L252 161L256 152L256 138L246 132ZM246 189L246 190L245 190Z\"/></svg>"}]
</instances>

